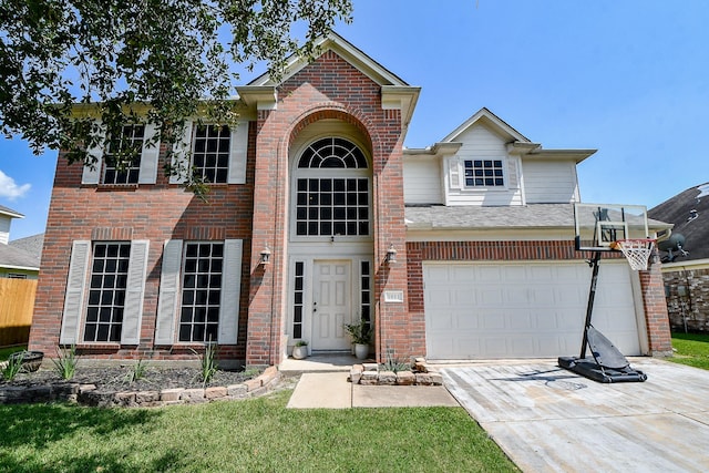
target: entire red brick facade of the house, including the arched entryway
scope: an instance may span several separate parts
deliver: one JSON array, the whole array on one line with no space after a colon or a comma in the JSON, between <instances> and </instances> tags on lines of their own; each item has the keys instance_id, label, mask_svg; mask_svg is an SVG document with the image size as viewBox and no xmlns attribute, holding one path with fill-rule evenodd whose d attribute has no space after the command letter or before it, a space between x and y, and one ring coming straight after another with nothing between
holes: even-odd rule
<instances>
[{"instance_id":1,"label":"entire red brick facade of the house, including the arched entryway","mask_svg":"<svg viewBox=\"0 0 709 473\"><path fill-rule=\"evenodd\" d=\"M403 202L402 111L382 104L382 85L333 51L305 65L275 88L275 106L256 106L248 128L246 184L212 185L202 200L160 174L155 184L82 185L81 166L60 154L51 198L30 349L49 357L59 345L69 261L74 240L148 240L140 342L79 343L80 354L97 359L193 360L202 343L158 346L158 295L166 240L243 241L238 338L219 346L223 360L248 366L278 364L288 333L290 163L311 126L328 123L353 130L371 158L370 233L374 351L397 359L425 356L422 263L425 260L579 259L572 241L407 243ZM392 110L393 109L393 110ZM158 168L165 164L161 148ZM369 241L369 239L367 240ZM370 245L370 243L367 243ZM388 264L388 248L397 250ZM271 251L270 264L259 263ZM341 255L328 257L338 258ZM659 266L659 265L658 265ZM640 274L653 353L669 347L659 267ZM403 302L384 302L395 291ZM80 323L82 321L80 320Z\"/></svg>"}]
</instances>

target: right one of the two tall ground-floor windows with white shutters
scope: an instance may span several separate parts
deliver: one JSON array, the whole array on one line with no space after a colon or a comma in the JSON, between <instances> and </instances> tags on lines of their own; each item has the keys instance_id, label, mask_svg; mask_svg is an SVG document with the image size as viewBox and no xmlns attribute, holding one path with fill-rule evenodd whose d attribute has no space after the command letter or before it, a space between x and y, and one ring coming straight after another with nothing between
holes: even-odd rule
<instances>
[{"instance_id":1,"label":"right one of the two tall ground-floor windows with white shutters","mask_svg":"<svg viewBox=\"0 0 709 473\"><path fill-rule=\"evenodd\" d=\"M179 341L217 340L223 263L223 243L185 244Z\"/></svg>"}]
</instances>

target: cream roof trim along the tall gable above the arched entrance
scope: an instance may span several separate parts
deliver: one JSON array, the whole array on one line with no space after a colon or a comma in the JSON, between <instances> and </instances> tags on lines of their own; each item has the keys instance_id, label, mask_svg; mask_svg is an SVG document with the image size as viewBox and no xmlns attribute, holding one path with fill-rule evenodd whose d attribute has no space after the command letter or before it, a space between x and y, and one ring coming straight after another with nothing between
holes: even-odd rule
<instances>
[{"instance_id":1,"label":"cream roof trim along the tall gable above the arched entrance","mask_svg":"<svg viewBox=\"0 0 709 473\"><path fill-rule=\"evenodd\" d=\"M374 61L369 55L364 54L362 50L337 34L336 32L331 32L327 37L322 37L316 40L316 48L318 51L316 53L316 58L320 56L328 50L332 51L379 85L409 85L397 74L382 66L379 62ZM286 70L284 72L284 76L280 79L280 82L288 80L289 78L298 73L298 71L307 66L309 63L310 61L308 60L308 58L296 54L291 55L286 62ZM273 81L268 72L266 72L254 79L248 83L248 85L277 85L277 83Z\"/></svg>"}]
</instances>

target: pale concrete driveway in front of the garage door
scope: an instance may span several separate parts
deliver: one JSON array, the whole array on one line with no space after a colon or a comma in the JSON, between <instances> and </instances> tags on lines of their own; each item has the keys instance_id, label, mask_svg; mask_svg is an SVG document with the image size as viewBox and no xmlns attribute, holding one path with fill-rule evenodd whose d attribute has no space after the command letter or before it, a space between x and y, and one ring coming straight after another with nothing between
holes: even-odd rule
<instances>
[{"instance_id":1,"label":"pale concrete driveway in front of the garage door","mask_svg":"<svg viewBox=\"0 0 709 473\"><path fill-rule=\"evenodd\" d=\"M525 472L709 471L709 371L630 361L647 381L597 383L556 360L436 369Z\"/></svg>"}]
</instances>

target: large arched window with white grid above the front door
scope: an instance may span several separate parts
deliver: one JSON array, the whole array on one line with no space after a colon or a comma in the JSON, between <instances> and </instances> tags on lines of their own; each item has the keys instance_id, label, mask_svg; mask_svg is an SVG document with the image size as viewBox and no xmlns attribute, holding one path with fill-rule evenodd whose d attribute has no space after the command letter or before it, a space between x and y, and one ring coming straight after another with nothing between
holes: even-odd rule
<instances>
[{"instance_id":1,"label":"large arched window with white grid above the front door","mask_svg":"<svg viewBox=\"0 0 709 473\"><path fill-rule=\"evenodd\" d=\"M297 164L296 235L369 236L364 153L348 140L327 137L310 144Z\"/></svg>"}]
</instances>

